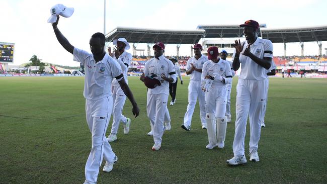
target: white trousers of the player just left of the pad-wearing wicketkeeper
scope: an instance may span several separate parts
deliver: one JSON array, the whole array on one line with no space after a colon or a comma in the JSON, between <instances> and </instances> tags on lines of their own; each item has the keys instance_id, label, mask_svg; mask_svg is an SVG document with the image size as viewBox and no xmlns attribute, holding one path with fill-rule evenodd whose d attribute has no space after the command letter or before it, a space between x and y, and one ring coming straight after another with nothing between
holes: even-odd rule
<instances>
[{"instance_id":1,"label":"white trousers of the player just left of the pad-wearing wicketkeeper","mask_svg":"<svg viewBox=\"0 0 327 184\"><path fill-rule=\"evenodd\" d=\"M191 127L192 116L194 112L194 108L196 105L196 101L199 99L200 105L200 118L201 124L206 125L205 120L205 93L201 89L201 81L199 80L190 80L189 84L189 104L187 105L186 113L184 115L184 125Z\"/></svg>"}]
</instances>

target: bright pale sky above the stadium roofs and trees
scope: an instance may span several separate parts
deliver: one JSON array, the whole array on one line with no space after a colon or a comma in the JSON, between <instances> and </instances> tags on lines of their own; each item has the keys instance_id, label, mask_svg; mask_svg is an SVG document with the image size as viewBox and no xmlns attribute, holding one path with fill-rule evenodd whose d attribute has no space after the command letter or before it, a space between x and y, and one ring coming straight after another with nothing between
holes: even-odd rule
<instances>
[{"instance_id":1,"label":"bright pale sky above the stadium roofs and trees","mask_svg":"<svg viewBox=\"0 0 327 184\"><path fill-rule=\"evenodd\" d=\"M0 4L0 42L15 43L14 65L29 62L33 55L43 62L79 65L61 47L47 23L55 4L74 8L73 15L61 17L58 24L74 47L90 51L92 34L104 31L104 0L0 0ZM267 28L322 26L327 25L326 7L327 1L323 0L106 0L106 33L116 27L195 30L198 25L237 25L250 19ZM189 56L190 46L182 45L180 55ZM322 54L324 48L327 42L322 42ZM146 44L138 44L137 49L147 53ZM168 44L165 54L176 55L176 45ZM274 44L274 55L283 54L284 44ZM300 54L299 43L287 44L287 55ZM304 43L304 55L317 54L316 42Z\"/></svg>"}]
</instances>

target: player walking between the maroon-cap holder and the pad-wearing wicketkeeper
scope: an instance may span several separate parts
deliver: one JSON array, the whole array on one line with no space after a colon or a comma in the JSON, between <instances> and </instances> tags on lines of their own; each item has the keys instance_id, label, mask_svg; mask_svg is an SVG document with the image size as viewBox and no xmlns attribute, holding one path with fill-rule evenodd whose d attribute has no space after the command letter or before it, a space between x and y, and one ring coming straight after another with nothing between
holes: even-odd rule
<instances>
[{"instance_id":1,"label":"player walking between the maroon-cap holder and the pad-wearing wicketkeeper","mask_svg":"<svg viewBox=\"0 0 327 184\"><path fill-rule=\"evenodd\" d=\"M201 54L202 46L201 44L195 44L193 46L194 49L194 57L191 57L186 64L186 74L191 75L190 83L189 83L189 104L187 105L186 113L184 115L184 123L182 124L182 128L186 131L191 130L191 121L194 112L194 108L196 105L197 99L199 99L200 105L200 118L202 128L207 128L207 123L205 119L205 93L201 89L201 72L202 67L205 62L208 61L208 57Z\"/></svg>"}]
</instances>

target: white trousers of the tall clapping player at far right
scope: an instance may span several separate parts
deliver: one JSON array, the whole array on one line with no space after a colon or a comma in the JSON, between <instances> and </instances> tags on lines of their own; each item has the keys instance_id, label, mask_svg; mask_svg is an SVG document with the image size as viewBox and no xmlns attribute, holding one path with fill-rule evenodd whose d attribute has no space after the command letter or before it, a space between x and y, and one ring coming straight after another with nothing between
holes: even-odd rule
<instances>
[{"instance_id":1,"label":"white trousers of the tall clapping player at far right","mask_svg":"<svg viewBox=\"0 0 327 184\"><path fill-rule=\"evenodd\" d=\"M236 86L236 121L233 142L234 156L244 155L244 138L247 120L250 119L250 152L258 149L261 133L263 106L266 101L265 80L247 80L238 78Z\"/></svg>"}]
</instances>

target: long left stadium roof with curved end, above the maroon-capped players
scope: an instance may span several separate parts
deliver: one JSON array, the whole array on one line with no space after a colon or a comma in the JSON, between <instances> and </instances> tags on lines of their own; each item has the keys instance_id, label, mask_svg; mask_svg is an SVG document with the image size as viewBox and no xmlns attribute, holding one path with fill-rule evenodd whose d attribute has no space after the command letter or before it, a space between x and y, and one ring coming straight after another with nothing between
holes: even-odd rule
<instances>
[{"instance_id":1,"label":"long left stadium roof with curved end, above the maroon-capped players","mask_svg":"<svg viewBox=\"0 0 327 184\"><path fill-rule=\"evenodd\" d=\"M195 44L204 34L204 30L159 30L117 27L106 35L106 41L112 42L120 37L130 43Z\"/></svg>"}]
</instances>

